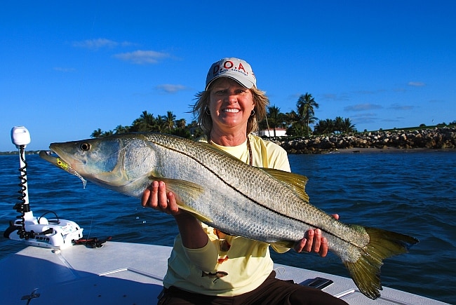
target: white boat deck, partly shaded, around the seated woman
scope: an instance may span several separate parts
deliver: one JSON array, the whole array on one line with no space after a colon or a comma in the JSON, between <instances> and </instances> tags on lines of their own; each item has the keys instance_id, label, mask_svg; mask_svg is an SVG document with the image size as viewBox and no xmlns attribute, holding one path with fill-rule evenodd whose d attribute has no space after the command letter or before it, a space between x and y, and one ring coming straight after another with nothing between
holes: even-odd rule
<instances>
[{"instance_id":1,"label":"white boat deck, partly shaded, around the seated woman","mask_svg":"<svg viewBox=\"0 0 456 305\"><path fill-rule=\"evenodd\" d=\"M1 304L156 304L170 247L107 242L102 248L74 245L62 250L28 247L0 261ZM316 277L349 304L445 304L384 287L368 299L350 278L275 265L277 277L302 283Z\"/></svg>"}]
</instances>

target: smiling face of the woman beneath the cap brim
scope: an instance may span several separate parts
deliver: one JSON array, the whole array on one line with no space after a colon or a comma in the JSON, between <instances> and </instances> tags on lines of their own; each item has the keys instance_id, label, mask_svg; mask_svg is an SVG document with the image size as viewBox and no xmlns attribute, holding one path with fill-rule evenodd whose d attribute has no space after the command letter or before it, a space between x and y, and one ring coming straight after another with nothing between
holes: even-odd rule
<instances>
[{"instance_id":1,"label":"smiling face of the woman beneath the cap brim","mask_svg":"<svg viewBox=\"0 0 456 305\"><path fill-rule=\"evenodd\" d=\"M255 108L250 89L241 86L233 79L222 77L210 88L209 110L213 128L226 133L233 128L243 128Z\"/></svg>"}]
</instances>

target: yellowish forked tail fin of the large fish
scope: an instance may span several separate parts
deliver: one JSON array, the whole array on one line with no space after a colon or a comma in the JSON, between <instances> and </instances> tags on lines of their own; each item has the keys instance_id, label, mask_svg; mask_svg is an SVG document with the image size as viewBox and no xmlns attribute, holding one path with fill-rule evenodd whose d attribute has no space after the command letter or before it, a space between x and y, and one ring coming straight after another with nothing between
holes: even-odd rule
<instances>
[{"instance_id":1,"label":"yellowish forked tail fin of the large fish","mask_svg":"<svg viewBox=\"0 0 456 305\"><path fill-rule=\"evenodd\" d=\"M356 262L345 261L344 265L349 270L358 289L366 297L377 299L382 290L380 267L383 259L408 252L408 248L418 243L418 240L392 231L368 227L364 229L369 234L368 245L358 248L361 257Z\"/></svg>"}]
</instances>

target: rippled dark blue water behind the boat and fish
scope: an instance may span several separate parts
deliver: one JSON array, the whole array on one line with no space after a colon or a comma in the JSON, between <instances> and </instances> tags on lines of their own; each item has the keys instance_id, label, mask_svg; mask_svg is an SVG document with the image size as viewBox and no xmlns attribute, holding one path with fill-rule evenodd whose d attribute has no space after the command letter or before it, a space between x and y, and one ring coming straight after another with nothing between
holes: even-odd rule
<instances>
[{"instance_id":1,"label":"rippled dark blue water behind the boat and fish","mask_svg":"<svg viewBox=\"0 0 456 305\"><path fill-rule=\"evenodd\" d=\"M293 172L309 177L311 203L342 222L398 231L420 240L405 255L387 259L382 284L456 304L456 151L400 151L386 154L290 155ZM172 245L173 218L142 208L129 198L55 168L37 155L27 155L30 207L35 216L53 211L83 229L85 237L128 243ZM19 157L0 156L2 231L18 212ZM51 218L52 215L47 215ZM1 229L1 228L0 228ZM0 259L25 248L0 238ZM275 262L348 276L330 253L283 255Z\"/></svg>"}]
</instances>

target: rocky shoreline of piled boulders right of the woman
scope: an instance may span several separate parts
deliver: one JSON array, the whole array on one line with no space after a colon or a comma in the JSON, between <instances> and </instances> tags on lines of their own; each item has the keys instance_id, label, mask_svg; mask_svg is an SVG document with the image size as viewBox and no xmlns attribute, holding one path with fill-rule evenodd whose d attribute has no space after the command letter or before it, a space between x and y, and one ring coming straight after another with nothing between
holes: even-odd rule
<instances>
[{"instance_id":1,"label":"rocky shoreline of piled boulders right of the woman","mask_svg":"<svg viewBox=\"0 0 456 305\"><path fill-rule=\"evenodd\" d=\"M334 151L383 152L410 149L456 151L456 127L422 130L387 130L356 135L329 135L310 138L282 138L275 141L288 154L326 154Z\"/></svg>"}]
</instances>

